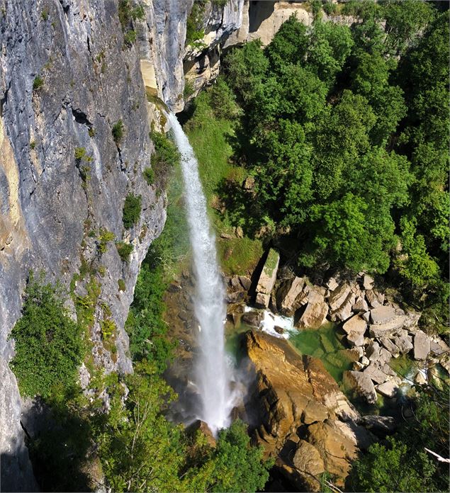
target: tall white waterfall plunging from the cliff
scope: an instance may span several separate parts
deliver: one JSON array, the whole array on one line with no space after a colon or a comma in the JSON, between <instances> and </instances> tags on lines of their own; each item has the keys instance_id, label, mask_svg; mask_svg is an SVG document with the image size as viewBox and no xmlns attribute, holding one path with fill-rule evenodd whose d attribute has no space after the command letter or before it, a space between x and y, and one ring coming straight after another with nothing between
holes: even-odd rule
<instances>
[{"instance_id":1,"label":"tall white waterfall plunging from the cliff","mask_svg":"<svg viewBox=\"0 0 450 493\"><path fill-rule=\"evenodd\" d=\"M225 288L219 272L215 235L210 226L206 198L198 175L198 162L176 116L169 115L176 146L181 154L186 212L196 275L194 312L198 320L196 387L201 399L198 419L214 434L230 424L233 407L230 368L225 353Z\"/></svg>"}]
</instances>

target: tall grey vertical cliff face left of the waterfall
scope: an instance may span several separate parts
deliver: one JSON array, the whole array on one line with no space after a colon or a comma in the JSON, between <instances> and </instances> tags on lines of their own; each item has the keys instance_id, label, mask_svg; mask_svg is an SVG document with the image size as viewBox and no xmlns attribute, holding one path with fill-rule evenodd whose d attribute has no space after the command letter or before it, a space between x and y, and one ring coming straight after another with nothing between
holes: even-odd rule
<instances>
[{"instance_id":1,"label":"tall grey vertical cliff face left of the waterfall","mask_svg":"<svg viewBox=\"0 0 450 493\"><path fill-rule=\"evenodd\" d=\"M117 2L3 2L0 19L0 415L2 485L33 489L20 426L16 381L6 366L7 336L20 316L30 269L68 286L84 260L116 324L117 358L103 348L99 319L91 333L96 363L129 372L123 325L140 263L164 225L164 194L142 178L153 150L135 47L125 47ZM42 15L47 12L46 18ZM33 89L39 76L42 85ZM38 79L39 80L39 79ZM36 85L36 84L35 84ZM123 123L123 137L112 128ZM87 159L75 159L75 149ZM137 224L124 230L125 197L142 197ZM101 228L133 245L121 261L114 242L99 251ZM118 290L118 280L125 290ZM84 293L82 282L77 293ZM24 451L25 450L25 451ZM28 465L27 465L28 464Z\"/></svg>"}]
</instances>

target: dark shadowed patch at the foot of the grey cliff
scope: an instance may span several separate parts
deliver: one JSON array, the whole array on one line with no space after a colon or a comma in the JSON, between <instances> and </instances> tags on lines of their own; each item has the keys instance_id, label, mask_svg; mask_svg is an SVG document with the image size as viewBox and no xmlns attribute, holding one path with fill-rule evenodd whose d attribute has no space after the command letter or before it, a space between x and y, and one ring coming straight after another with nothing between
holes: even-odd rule
<instances>
[{"instance_id":1,"label":"dark shadowed patch at the foot of the grey cliff","mask_svg":"<svg viewBox=\"0 0 450 493\"><path fill-rule=\"evenodd\" d=\"M21 425L33 472L43 492L91 492L99 460L94 457L91 423L62 405L26 402ZM98 485L97 485L98 487Z\"/></svg>"}]
</instances>

